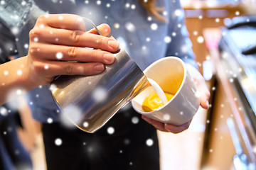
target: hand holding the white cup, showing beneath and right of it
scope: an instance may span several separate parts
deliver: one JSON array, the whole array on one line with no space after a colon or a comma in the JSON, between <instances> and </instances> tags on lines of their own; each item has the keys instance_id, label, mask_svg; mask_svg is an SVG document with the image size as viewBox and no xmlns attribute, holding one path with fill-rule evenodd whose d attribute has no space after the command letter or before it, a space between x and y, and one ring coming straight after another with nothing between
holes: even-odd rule
<instances>
[{"instance_id":1,"label":"hand holding the white cup, showing beneath and right of it","mask_svg":"<svg viewBox=\"0 0 256 170\"><path fill-rule=\"evenodd\" d=\"M186 64L186 67L188 69L189 74L191 74L191 77L193 77L196 86L198 88L198 91L201 94L201 101L200 105L202 108L208 109L209 107L209 98L210 98L210 91L208 90L208 87L206 86L206 81L203 78L203 76L198 72L198 70L193 67L191 64ZM153 125L157 130L161 130L163 132L173 132L173 133L179 133L183 130L188 129L191 120L189 120L187 123L184 123L183 125L171 125L166 123L161 123L159 121L153 120L151 118L146 117L145 115L142 115L142 118L146 120L147 123L150 123Z\"/></svg>"}]
</instances>

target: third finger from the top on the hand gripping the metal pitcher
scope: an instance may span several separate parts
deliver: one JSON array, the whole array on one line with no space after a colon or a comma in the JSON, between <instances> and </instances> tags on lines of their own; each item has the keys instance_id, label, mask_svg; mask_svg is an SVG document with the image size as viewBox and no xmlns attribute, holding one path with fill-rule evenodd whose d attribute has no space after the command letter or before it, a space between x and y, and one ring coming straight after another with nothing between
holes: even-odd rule
<instances>
[{"instance_id":1,"label":"third finger from the top on the hand gripping the metal pitcher","mask_svg":"<svg viewBox=\"0 0 256 170\"><path fill-rule=\"evenodd\" d=\"M42 45L38 43L33 44L29 52L37 60L102 62L104 64L112 64L114 62L114 55L112 53L84 47Z\"/></svg>"}]
</instances>

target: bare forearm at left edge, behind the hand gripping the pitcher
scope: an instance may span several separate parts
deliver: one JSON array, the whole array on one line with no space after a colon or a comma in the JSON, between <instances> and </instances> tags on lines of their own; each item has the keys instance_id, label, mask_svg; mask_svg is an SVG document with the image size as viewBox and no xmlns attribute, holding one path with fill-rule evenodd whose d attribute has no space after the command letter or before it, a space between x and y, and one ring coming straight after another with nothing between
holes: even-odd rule
<instances>
[{"instance_id":1,"label":"bare forearm at left edge, behind the hand gripping the pitcher","mask_svg":"<svg viewBox=\"0 0 256 170\"><path fill-rule=\"evenodd\" d=\"M26 57L0 64L0 105L36 87L28 79Z\"/></svg>"}]
</instances>

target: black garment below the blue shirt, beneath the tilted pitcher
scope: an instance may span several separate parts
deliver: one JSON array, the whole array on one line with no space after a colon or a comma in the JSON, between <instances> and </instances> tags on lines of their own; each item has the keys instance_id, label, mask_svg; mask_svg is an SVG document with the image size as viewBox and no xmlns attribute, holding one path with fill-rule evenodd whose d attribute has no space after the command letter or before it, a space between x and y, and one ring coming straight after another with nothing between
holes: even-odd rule
<instances>
[{"instance_id":1,"label":"black garment below the blue shirt, beneath the tilted pitcher","mask_svg":"<svg viewBox=\"0 0 256 170\"><path fill-rule=\"evenodd\" d=\"M114 128L112 135L107 132L110 127ZM43 139L49 170L159 169L156 129L132 108L117 113L93 134L60 123L43 123ZM56 140L62 144L55 145ZM146 145L146 140L153 140L153 145Z\"/></svg>"}]
</instances>

